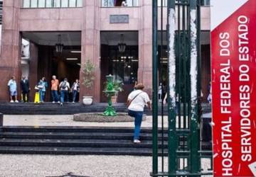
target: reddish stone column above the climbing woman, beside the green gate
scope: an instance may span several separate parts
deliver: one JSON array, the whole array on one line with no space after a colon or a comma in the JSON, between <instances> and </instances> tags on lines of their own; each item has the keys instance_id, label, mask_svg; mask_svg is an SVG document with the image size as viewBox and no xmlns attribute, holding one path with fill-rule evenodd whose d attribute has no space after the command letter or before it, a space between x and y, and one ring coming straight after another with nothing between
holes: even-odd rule
<instances>
[{"instance_id":1,"label":"reddish stone column above the climbing woman, beside the green gate","mask_svg":"<svg viewBox=\"0 0 256 177\"><path fill-rule=\"evenodd\" d=\"M152 91L152 2L140 1L139 26L139 70L138 81L145 85L145 90Z\"/></svg>"}]
</instances>

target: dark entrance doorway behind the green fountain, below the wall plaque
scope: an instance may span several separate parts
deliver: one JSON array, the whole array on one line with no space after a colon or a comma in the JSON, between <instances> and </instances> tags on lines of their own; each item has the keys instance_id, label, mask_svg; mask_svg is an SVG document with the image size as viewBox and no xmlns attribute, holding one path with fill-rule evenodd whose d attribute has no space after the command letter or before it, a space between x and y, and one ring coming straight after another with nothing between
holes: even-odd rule
<instances>
[{"instance_id":1,"label":"dark entrance doorway behind the green fountain, below the wall plaque","mask_svg":"<svg viewBox=\"0 0 256 177\"><path fill-rule=\"evenodd\" d=\"M105 76L112 74L114 79L122 81L124 84L124 91L119 92L117 96L117 102L124 103L137 81L139 67L138 32L102 32L100 37L101 90L105 86ZM107 101L103 93L101 101Z\"/></svg>"}]
</instances>

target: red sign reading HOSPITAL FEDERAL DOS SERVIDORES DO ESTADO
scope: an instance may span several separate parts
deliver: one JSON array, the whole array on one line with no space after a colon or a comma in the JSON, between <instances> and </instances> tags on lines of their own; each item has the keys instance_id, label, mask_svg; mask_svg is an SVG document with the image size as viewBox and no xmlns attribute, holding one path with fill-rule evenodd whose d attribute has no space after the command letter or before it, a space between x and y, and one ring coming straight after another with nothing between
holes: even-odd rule
<instances>
[{"instance_id":1,"label":"red sign reading HOSPITAL FEDERAL DOS SERVIDORES DO ESTADO","mask_svg":"<svg viewBox=\"0 0 256 177\"><path fill-rule=\"evenodd\" d=\"M211 50L214 176L256 176L256 0L211 32Z\"/></svg>"}]
</instances>

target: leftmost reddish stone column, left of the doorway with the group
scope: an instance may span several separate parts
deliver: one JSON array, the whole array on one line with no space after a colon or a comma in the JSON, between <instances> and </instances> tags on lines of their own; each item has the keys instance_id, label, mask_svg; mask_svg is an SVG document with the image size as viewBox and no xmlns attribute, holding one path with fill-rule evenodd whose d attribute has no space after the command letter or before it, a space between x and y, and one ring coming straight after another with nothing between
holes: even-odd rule
<instances>
[{"instance_id":1,"label":"leftmost reddish stone column, left of the doorway with the group","mask_svg":"<svg viewBox=\"0 0 256 177\"><path fill-rule=\"evenodd\" d=\"M3 4L3 24L0 57L0 101L9 101L7 83L16 76L17 85L21 80L21 35L19 33L19 11L21 1L8 0ZM20 91L18 90L20 98Z\"/></svg>"}]
</instances>

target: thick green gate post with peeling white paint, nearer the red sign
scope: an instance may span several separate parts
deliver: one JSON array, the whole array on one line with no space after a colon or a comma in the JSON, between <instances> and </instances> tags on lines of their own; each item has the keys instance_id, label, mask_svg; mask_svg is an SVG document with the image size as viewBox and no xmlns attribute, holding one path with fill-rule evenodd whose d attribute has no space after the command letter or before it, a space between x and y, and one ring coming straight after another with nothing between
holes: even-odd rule
<instances>
[{"instance_id":1,"label":"thick green gate post with peeling white paint, nearer the red sign","mask_svg":"<svg viewBox=\"0 0 256 177\"><path fill-rule=\"evenodd\" d=\"M199 133L198 133L198 26L196 0L190 0L191 28L191 173L200 171Z\"/></svg>"}]
</instances>

